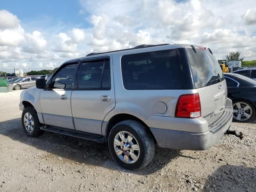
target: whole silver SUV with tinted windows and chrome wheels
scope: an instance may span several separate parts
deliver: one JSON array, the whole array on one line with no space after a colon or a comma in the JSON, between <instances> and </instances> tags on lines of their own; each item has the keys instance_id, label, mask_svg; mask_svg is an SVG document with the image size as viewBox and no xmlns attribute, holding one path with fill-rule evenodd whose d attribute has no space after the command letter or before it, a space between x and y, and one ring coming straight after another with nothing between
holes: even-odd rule
<instances>
[{"instance_id":1,"label":"whole silver SUV with tinted windows and chrome wheels","mask_svg":"<svg viewBox=\"0 0 256 192\"><path fill-rule=\"evenodd\" d=\"M20 96L30 137L43 130L108 142L123 168L145 167L162 148L205 150L232 121L226 80L210 49L141 45L62 64Z\"/></svg>"}]
</instances>

